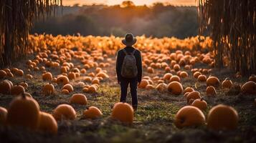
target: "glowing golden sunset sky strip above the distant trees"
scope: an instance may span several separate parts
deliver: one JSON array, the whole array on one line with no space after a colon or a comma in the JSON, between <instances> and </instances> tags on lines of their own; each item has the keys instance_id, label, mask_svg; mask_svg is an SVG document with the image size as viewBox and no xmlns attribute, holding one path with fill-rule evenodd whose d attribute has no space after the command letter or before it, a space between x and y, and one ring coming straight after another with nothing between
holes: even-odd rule
<instances>
[{"instance_id":1,"label":"glowing golden sunset sky strip above the distant trees","mask_svg":"<svg viewBox=\"0 0 256 143\"><path fill-rule=\"evenodd\" d=\"M124 0L62 0L64 6L72 6L74 4L80 5L91 5L91 4L107 4L107 5L115 5L121 4ZM155 2L168 2L169 4L174 5L184 5L184 6L196 6L196 0L132 0L136 5L151 5Z\"/></svg>"}]
</instances>

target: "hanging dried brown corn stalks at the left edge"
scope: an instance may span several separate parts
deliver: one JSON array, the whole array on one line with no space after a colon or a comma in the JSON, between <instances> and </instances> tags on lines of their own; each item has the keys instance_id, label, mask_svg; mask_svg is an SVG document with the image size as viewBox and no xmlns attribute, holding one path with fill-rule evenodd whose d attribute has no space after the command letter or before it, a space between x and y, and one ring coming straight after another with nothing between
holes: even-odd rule
<instances>
[{"instance_id":1,"label":"hanging dried brown corn stalks at the left edge","mask_svg":"<svg viewBox=\"0 0 256 143\"><path fill-rule=\"evenodd\" d=\"M0 66L26 54L34 19L48 16L62 0L0 0Z\"/></svg>"}]
</instances>

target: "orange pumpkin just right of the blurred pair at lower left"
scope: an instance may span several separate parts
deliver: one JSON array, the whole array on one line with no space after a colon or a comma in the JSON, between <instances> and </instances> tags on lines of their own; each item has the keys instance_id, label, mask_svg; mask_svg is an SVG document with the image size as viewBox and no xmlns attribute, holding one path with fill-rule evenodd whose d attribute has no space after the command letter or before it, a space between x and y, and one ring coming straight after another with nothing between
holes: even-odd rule
<instances>
[{"instance_id":1,"label":"orange pumpkin just right of the blurred pair at lower left","mask_svg":"<svg viewBox=\"0 0 256 143\"><path fill-rule=\"evenodd\" d=\"M76 112L73 107L71 107L69 104L60 104L59 106L54 109L53 117L60 121L62 119L65 120L74 120L76 118Z\"/></svg>"}]
</instances>

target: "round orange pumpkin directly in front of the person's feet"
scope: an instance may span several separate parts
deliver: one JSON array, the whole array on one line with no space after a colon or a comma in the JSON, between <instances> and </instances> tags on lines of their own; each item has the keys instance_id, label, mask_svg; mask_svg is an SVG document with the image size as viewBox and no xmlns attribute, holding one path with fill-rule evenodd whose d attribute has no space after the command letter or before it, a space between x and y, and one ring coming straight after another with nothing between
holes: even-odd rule
<instances>
[{"instance_id":1,"label":"round orange pumpkin directly in front of the person's feet","mask_svg":"<svg viewBox=\"0 0 256 143\"><path fill-rule=\"evenodd\" d=\"M130 104L118 102L115 103L111 114L113 119L118 119L120 122L133 123L133 107Z\"/></svg>"}]
</instances>

